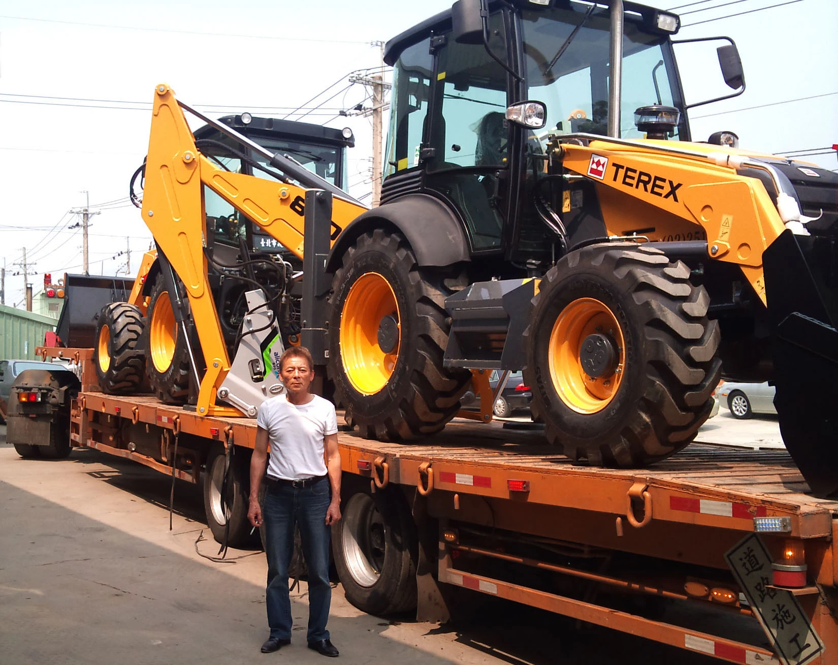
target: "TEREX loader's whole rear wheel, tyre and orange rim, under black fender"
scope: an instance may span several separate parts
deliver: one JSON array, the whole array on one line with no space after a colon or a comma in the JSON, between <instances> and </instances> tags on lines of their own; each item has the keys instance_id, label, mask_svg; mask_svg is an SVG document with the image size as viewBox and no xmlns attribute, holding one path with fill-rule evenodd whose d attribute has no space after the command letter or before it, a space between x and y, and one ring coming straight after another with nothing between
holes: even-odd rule
<instances>
[{"instance_id":1,"label":"TEREX loader's whole rear wheel, tyre and orange rim, under black fender","mask_svg":"<svg viewBox=\"0 0 838 665\"><path fill-rule=\"evenodd\" d=\"M440 431L459 409L470 372L446 369L445 299L461 271L419 268L406 240L382 229L344 254L329 299L329 377L344 418L367 439Z\"/></svg>"}]
</instances>

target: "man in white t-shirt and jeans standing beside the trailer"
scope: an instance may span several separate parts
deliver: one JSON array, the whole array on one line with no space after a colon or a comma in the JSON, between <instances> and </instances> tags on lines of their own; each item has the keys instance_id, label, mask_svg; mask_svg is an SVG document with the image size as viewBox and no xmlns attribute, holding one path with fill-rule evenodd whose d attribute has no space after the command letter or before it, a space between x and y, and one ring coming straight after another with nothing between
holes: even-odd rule
<instances>
[{"instance_id":1,"label":"man in white t-shirt and jeans standing beside the trailer","mask_svg":"<svg viewBox=\"0 0 838 665\"><path fill-rule=\"evenodd\" d=\"M291 643L288 564L294 551L296 524L308 565L308 648L323 656L337 656L326 622L332 598L328 583L329 527L340 519L338 419L332 403L308 392L314 377L308 349L288 348L279 366L286 392L259 408L247 513L254 527L265 523L265 601L271 636L261 651L275 652ZM264 505L260 506L263 478L266 491Z\"/></svg>"}]
</instances>

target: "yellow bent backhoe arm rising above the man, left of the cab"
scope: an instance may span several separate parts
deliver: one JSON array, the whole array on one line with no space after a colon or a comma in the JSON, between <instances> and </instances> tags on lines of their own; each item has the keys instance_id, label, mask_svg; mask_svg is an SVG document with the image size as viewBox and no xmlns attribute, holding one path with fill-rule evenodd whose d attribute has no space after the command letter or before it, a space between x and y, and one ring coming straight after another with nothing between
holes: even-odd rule
<instances>
[{"instance_id":1,"label":"yellow bent backhoe arm rising above the man, left of the cab","mask_svg":"<svg viewBox=\"0 0 838 665\"><path fill-rule=\"evenodd\" d=\"M200 380L197 411L201 415L240 416L238 409L215 404L216 392L230 371L230 357L207 277L204 184L294 255L303 258L305 188L221 169L195 146L172 89L157 86L142 219L152 231L158 250L184 283L189 297L207 367ZM365 207L334 198L333 243L349 221L364 210Z\"/></svg>"}]
</instances>

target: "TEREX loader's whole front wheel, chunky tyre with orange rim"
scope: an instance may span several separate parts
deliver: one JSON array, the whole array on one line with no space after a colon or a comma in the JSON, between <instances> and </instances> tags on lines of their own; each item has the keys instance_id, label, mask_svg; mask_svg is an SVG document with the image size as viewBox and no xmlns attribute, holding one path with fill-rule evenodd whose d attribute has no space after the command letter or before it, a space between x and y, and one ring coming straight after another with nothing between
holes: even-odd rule
<instances>
[{"instance_id":1,"label":"TEREX loader's whole front wheel, chunky tyre with orange rim","mask_svg":"<svg viewBox=\"0 0 838 665\"><path fill-rule=\"evenodd\" d=\"M585 247L541 280L524 382L546 437L572 460L642 466L683 449L709 417L719 328L690 268L660 250Z\"/></svg>"}]
</instances>

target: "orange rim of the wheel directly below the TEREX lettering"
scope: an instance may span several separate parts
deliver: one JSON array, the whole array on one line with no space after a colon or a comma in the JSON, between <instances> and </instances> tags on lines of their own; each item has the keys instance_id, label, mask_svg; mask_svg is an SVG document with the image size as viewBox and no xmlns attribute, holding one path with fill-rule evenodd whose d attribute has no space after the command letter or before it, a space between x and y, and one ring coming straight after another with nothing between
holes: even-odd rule
<instances>
[{"instance_id":1,"label":"orange rim of the wheel directly below the TEREX lettering","mask_svg":"<svg viewBox=\"0 0 838 665\"><path fill-rule=\"evenodd\" d=\"M613 371L593 378L582 367L582 342L595 333L613 339L618 358ZM602 411L617 394L625 370L625 342L617 317L599 300L573 300L553 324L547 361L553 388L568 408L577 413Z\"/></svg>"}]
</instances>

